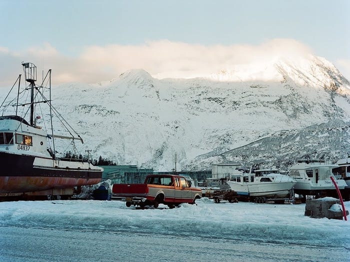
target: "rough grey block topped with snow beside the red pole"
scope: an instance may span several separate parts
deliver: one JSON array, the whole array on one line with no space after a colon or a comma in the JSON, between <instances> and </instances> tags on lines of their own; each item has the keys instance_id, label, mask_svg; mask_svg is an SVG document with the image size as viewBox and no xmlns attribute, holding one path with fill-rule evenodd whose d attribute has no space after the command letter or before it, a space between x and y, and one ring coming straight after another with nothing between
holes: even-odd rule
<instances>
[{"instance_id":1,"label":"rough grey block topped with snow beside the red pole","mask_svg":"<svg viewBox=\"0 0 350 262\"><path fill-rule=\"evenodd\" d=\"M346 210L346 215L349 212ZM342 220L343 212L340 200L333 197L323 197L306 200L304 215L312 218L327 217Z\"/></svg>"}]
</instances>

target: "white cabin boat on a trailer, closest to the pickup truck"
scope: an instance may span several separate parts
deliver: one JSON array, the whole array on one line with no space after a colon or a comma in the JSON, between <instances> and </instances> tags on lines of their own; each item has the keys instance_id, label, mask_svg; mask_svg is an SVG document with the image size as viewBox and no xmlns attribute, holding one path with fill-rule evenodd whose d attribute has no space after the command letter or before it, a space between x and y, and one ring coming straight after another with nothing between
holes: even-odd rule
<instances>
[{"instance_id":1,"label":"white cabin boat on a trailer, closest to the pickup truck","mask_svg":"<svg viewBox=\"0 0 350 262\"><path fill-rule=\"evenodd\" d=\"M238 170L240 173L230 175L226 183L238 195L250 197L258 202L264 202L268 198L288 198L295 184L294 179L273 168L253 169L251 166Z\"/></svg>"}]
</instances>

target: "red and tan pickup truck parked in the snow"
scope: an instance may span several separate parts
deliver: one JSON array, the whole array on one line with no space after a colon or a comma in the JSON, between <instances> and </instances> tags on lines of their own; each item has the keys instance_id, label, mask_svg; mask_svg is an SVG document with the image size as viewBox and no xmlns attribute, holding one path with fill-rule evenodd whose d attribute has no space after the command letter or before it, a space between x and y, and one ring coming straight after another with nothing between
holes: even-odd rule
<instances>
[{"instance_id":1,"label":"red and tan pickup truck parked in the snow","mask_svg":"<svg viewBox=\"0 0 350 262\"><path fill-rule=\"evenodd\" d=\"M126 206L152 205L159 203L170 208L180 203L194 204L201 196L201 189L190 187L190 183L180 175L151 174L143 184L113 184L112 198L126 202Z\"/></svg>"}]
</instances>

